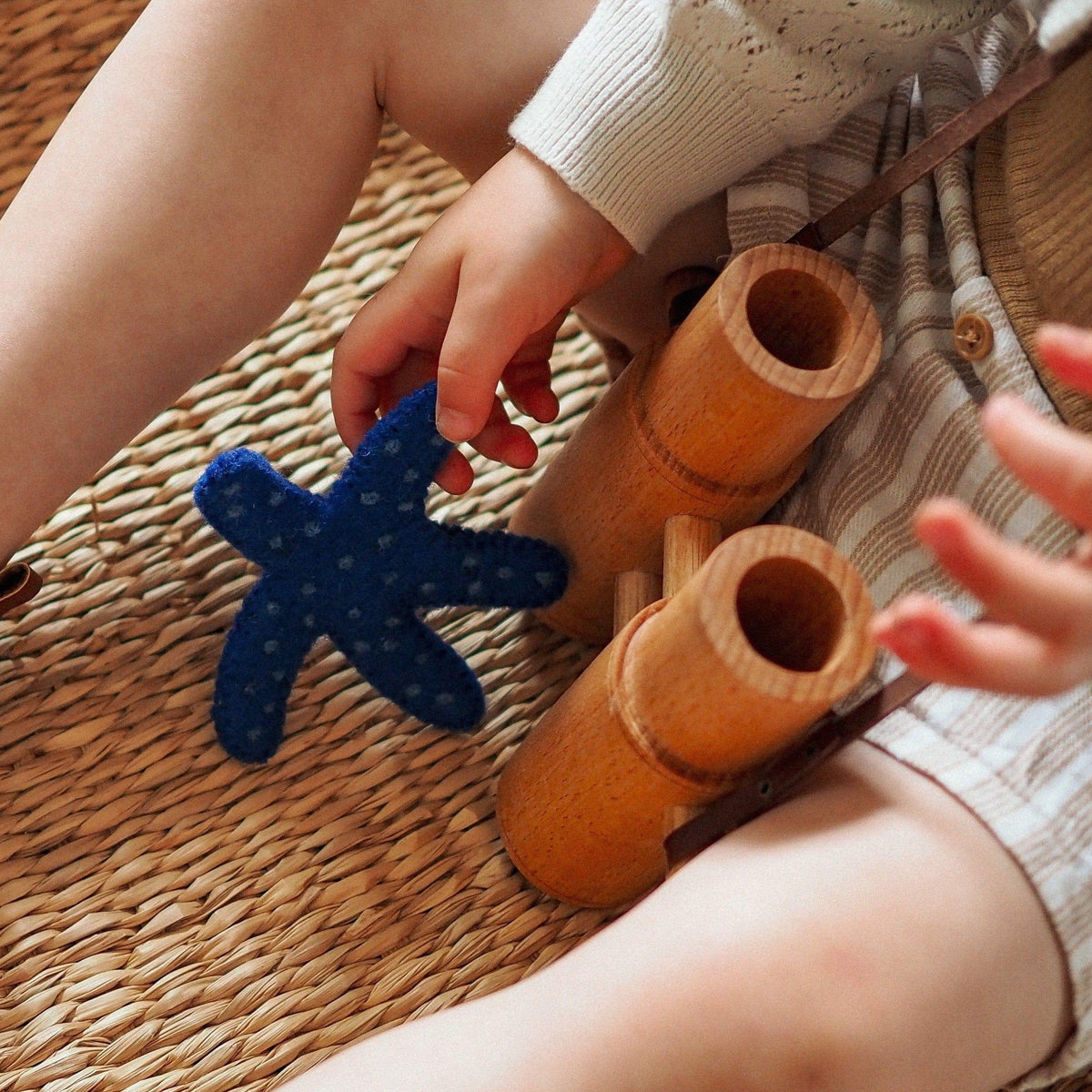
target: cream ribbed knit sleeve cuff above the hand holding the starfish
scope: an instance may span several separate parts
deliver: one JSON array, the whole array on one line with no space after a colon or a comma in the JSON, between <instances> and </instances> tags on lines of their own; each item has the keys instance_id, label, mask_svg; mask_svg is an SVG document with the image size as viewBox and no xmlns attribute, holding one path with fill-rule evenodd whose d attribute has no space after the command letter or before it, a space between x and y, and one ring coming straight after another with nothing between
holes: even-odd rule
<instances>
[{"instance_id":1,"label":"cream ribbed knit sleeve cuff above the hand holding the starfish","mask_svg":"<svg viewBox=\"0 0 1092 1092\"><path fill-rule=\"evenodd\" d=\"M668 33L655 0L603 0L511 134L642 252L784 146L723 67Z\"/></svg>"}]
</instances>

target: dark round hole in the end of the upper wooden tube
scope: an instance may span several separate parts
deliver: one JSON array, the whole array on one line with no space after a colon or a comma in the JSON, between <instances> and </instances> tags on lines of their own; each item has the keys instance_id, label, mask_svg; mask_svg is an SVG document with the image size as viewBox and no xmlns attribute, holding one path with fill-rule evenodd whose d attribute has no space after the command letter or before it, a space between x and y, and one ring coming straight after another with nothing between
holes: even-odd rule
<instances>
[{"instance_id":1,"label":"dark round hole in the end of the upper wooden tube","mask_svg":"<svg viewBox=\"0 0 1092 1092\"><path fill-rule=\"evenodd\" d=\"M822 371L844 355L850 314L838 296L811 273L773 270L747 294L747 321L758 343L791 368Z\"/></svg>"}]
</instances>

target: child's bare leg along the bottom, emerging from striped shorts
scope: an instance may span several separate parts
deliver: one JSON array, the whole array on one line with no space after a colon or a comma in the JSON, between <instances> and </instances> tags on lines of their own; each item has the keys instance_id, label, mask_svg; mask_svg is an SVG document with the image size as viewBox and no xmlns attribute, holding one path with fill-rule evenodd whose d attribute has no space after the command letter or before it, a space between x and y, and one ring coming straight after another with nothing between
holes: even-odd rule
<instances>
[{"instance_id":1,"label":"child's bare leg along the bottom, emerging from striped shorts","mask_svg":"<svg viewBox=\"0 0 1092 1092\"><path fill-rule=\"evenodd\" d=\"M1069 1022L1016 864L857 744L553 966L285 1092L993 1092Z\"/></svg>"}]
</instances>

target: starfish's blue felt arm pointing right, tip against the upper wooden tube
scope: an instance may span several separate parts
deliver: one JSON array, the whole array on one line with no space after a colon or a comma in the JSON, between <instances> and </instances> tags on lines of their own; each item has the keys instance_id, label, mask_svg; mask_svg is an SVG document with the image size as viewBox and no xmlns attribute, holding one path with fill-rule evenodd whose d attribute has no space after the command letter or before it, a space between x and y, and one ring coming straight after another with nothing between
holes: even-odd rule
<instances>
[{"instance_id":1,"label":"starfish's blue felt arm pointing right, tip against the upper wooden tube","mask_svg":"<svg viewBox=\"0 0 1092 1092\"><path fill-rule=\"evenodd\" d=\"M506 531L471 531L430 523L437 558L418 594L423 607L482 606L522 610L544 607L565 591L568 567L560 550Z\"/></svg>"}]
</instances>

